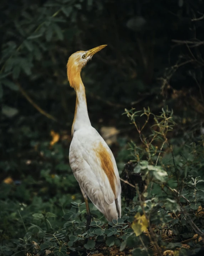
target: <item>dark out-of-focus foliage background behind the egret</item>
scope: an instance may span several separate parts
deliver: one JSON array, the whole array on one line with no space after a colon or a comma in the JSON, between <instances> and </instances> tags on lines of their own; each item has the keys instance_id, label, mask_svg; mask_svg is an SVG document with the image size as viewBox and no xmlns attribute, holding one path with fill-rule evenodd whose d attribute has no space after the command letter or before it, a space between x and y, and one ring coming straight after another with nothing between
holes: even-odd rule
<instances>
[{"instance_id":1,"label":"dark out-of-focus foliage background behind the egret","mask_svg":"<svg viewBox=\"0 0 204 256\"><path fill-rule=\"evenodd\" d=\"M174 148L198 143L204 132L203 1L2 0L0 13L2 246L24 237L21 218L31 223L40 211L62 216L82 200L68 164L75 92L66 63L73 52L108 45L81 76L91 123L120 173L135 160L127 143L141 144L122 115L125 108L149 106L157 115L168 106L177 123L168 135ZM153 118L148 123L144 134ZM55 224L63 226L62 219ZM10 251L3 248L2 255Z\"/></svg>"}]
</instances>

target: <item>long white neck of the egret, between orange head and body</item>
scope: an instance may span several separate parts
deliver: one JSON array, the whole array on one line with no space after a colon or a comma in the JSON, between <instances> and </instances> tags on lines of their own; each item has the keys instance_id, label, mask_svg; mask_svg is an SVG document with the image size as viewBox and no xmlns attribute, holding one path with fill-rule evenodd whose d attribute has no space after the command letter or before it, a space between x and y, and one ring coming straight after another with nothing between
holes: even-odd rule
<instances>
[{"instance_id":1,"label":"long white neck of the egret, between orange head and body","mask_svg":"<svg viewBox=\"0 0 204 256\"><path fill-rule=\"evenodd\" d=\"M75 117L72 124L72 136L76 130L85 126L91 126L87 111L85 88L81 77L78 79L77 83L78 84L75 86L76 108Z\"/></svg>"}]
</instances>

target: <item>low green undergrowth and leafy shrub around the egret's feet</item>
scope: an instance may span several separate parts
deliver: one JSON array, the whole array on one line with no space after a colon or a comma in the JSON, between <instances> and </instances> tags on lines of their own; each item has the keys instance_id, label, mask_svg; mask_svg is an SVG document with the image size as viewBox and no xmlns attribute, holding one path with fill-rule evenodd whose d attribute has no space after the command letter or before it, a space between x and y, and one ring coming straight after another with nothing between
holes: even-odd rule
<instances>
[{"instance_id":1,"label":"low green undergrowth and leafy shrub around the egret's feet","mask_svg":"<svg viewBox=\"0 0 204 256\"><path fill-rule=\"evenodd\" d=\"M121 218L107 223L91 205L92 222L86 231L85 203L76 196L67 201L66 193L47 200L33 195L27 203L31 178L21 185L4 182L0 255L185 256L200 250L204 240L204 138L175 139L176 124L168 109L160 115L149 108L125 110L124 114L135 126L140 143L129 143L132 170L121 183L132 189L134 198L130 202L123 191ZM141 178L140 184L134 175ZM51 187L66 186L64 176L41 171L41 178Z\"/></svg>"}]
</instances>

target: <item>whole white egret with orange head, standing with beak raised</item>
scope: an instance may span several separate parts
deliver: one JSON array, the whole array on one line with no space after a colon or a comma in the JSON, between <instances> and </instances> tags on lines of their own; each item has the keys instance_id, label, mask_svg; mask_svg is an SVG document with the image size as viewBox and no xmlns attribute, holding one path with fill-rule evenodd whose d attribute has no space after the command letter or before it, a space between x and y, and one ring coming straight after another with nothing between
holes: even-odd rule
<instances>
[{"instance_id":1,"label":"whole white egret with orange head, standing with beak raised","mask_svg":"<svg viewBox=\"0 0 204 256\"><path fill-rule=\"evenodd\" d=\"M121 183L116 160L104 139L91 125L81 69L107 45L73 53L67 62L67 78L76 91L69 162L86 205L86 229L91 223L88 198L108 222L121 217Z\"/></svg>"}]
</instances>

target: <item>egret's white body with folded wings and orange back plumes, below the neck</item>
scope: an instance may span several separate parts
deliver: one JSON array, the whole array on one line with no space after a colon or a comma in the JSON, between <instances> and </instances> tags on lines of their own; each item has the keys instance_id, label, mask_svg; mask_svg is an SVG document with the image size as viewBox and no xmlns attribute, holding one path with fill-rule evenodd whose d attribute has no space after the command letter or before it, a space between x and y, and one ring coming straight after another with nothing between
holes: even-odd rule
<instances>
[{"instance_id":1,"label":"egret's white body with folded wings and orange back plumes, below the neck","mask_svg":"<svg viewBox=\"0 0 204 256\"><path fill-rule=\"evenodd\" d=\"M69 158L81 189L98 210L108 220L120 216L121 184L116 161L108 145L93 127L75 131Z\"/></svg>"}]
</instances>

